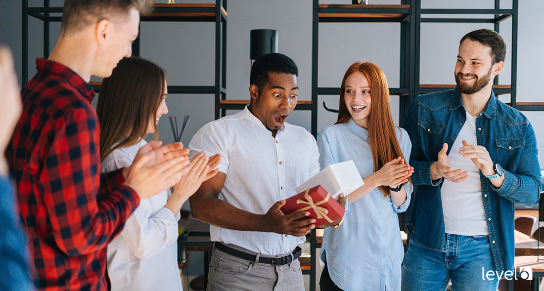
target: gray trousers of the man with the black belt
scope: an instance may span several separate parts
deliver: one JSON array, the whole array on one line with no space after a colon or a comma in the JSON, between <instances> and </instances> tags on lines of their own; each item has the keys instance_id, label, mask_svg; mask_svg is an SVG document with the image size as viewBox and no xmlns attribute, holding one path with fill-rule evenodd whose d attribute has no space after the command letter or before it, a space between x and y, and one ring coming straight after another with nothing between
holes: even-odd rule
<instances>
[{"instance_id":1,"label":"gray trousers of the man with the black belt","mask_svg":"<svg viewBox=\"0 0 544 291\"><path fill-rule=\"evenodd\" d=\"M242 247L231 244L225 245L257 255L256 261L261 257L259 254ZM296 259L290 264L273 266L234 257L214 247L212 260L209 264L207 291L237 290L304 291L300 262Z\"/></svg>"}]
</instances>

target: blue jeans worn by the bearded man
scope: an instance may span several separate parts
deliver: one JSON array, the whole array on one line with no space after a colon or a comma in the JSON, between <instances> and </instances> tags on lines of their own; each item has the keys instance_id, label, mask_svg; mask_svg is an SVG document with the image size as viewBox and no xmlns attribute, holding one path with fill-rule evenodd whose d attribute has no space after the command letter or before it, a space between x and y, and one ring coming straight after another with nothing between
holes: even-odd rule
<instances>
[{"instance_id":1,"label":"blue jeans worn by the bearded man","mask_svg":"<svg viewBox=\"0 0 544 291\"><path fill-rule=\"evenodd\" d=\"M484 277L482 273L488 271L495 271L488 236L446 233L442 250L411 239L404 257L401 290L446 290L451 279L453 291L496 291L499 278Z\"/></svg>"}]
</instances>

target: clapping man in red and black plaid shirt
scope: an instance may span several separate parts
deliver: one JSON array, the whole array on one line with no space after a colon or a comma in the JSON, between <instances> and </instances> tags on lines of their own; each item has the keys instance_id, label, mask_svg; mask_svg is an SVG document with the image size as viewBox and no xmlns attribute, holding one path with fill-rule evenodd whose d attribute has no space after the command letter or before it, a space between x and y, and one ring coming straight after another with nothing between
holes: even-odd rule
<instances>
[{"instance_id":1,"label":"clapping man in red and black plaid shirt","mask_svg":"<svg viewBox=\"0 0 544 291\"><path fill-rule=\"evenodd\" d=\"M131 55L149 0L66 0L60 38L22 89L7 149L40 290L106 290L106 246L145 199L187 172L181 144L142 147L129 168L100 175L91 75Z\"/></svg>"}]
</instances>

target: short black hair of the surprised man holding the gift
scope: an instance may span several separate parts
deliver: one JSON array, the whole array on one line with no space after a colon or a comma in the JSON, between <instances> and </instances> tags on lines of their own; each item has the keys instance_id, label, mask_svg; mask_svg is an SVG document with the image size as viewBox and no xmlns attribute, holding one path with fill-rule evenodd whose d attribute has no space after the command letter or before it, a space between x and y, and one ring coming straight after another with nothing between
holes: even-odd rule
<instances>
[{"instance_id":1,"label":"short black hair of the surprised man holding the gift","mask_svg":"<svg viewBox=\"0 0 544 291\"><path fill-rule=\"evenodd\" d=\"M299 76L299 68L287 55L281 53L263 54L253 63L249 77L249 84L256 85L259 88L259 94L264 85L268 83L270 72Z\"/></svg>"}]
</instances>

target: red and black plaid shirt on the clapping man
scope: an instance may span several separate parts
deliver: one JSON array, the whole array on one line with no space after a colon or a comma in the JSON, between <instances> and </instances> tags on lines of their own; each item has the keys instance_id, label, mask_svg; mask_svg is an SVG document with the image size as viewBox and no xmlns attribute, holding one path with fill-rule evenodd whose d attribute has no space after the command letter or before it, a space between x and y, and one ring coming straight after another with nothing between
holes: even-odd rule
<instances>
[{"instance_id":1,"label":"red and black plaid shirt on the clapping man","mask_svg":"<svg viewBox=\"0 0 544 291\"><path fill-rule=\"evenodd\" d=\"M140 199L122 169L100 174L94 90L68 67L36 59L7 157L40 290L106 290L106 246Z\"/></svg>"}]
</instances>

